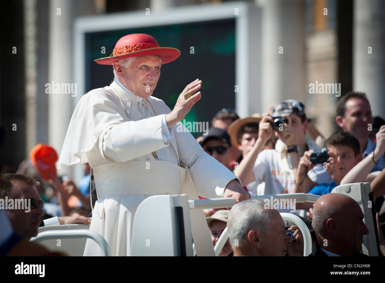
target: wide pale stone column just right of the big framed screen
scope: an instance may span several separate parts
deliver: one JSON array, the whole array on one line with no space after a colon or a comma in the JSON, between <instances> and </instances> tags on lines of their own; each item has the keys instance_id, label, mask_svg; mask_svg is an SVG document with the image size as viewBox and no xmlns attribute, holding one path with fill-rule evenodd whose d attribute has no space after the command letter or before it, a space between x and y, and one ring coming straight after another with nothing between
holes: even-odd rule
<instances>
[{"instance_id":1,"label":"wide pale stone column just right of the big framed screen","mask_svg":"<svg viewBox=\"0 0 385 283\"><path fill-rule=\"evenodd\" d=\"M305 1L256 3L262 8L261 111L285 99L306 102Z\"/></svg>"}]
</instances>

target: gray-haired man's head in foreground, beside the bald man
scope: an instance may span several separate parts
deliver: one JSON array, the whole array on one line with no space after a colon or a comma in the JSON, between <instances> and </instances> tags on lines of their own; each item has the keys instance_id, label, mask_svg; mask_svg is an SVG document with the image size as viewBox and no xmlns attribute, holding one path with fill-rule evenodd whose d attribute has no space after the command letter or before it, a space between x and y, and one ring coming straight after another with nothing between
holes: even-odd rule
<instances>
[{"instance_id":1,"label":"gray-haired man's head in foreground, beside the bald man","mask_svg":"<svg viewBox=\"0 0 385 283\"><path fill-rule=\"evenodd\" d=\"M275 209L251 199L231 208L227 221L234 256L285 256L291 238Z\"/></svg>"}]
</instances>

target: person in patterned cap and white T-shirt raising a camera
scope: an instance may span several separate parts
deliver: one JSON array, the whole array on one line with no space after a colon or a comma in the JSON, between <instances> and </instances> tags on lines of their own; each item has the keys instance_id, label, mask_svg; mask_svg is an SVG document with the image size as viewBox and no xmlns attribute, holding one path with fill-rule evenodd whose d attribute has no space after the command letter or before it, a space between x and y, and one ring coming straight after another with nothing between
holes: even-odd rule
<instances>
[{"instance_id":1,"label":"person in patterned cap and white T-shirt raising a camera","mask_svg":"<svg viewBox=\"0 0 385 283\"><path fill-rule=\"evenodd\" d=\"M236 176L243 184L264 181L264 194L293 193L300 157L310 149L320 151L305 138L307 126L303 103L288 99L276 104L271 114L262 116L258 140L239 164ZM262 151L272 131L279 138L275 149ZM317 176L313 181L319 183Z\"/></svg>"}]
</instances>

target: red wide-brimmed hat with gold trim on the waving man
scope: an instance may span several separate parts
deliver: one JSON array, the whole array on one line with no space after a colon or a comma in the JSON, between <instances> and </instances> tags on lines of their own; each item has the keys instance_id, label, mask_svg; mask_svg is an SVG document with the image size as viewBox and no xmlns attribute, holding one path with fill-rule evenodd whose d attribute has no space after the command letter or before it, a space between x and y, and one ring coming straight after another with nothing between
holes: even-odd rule
<instances>
[{"instance_id":1,"label":"red wide-brimmed hat with gold trim on the waving man","mask_svg":"<svg viewBox=\"0 0 385 283\"><path fill-rule=\"evenodd\" d=\"M109 57L96 59L95 62L112 65L117 60L143 55L159 56L163 65L177 59L181 52L173 47L160 47L154 37L146 33L132 33L118 40Z\"/></svg>"}]
</instances>

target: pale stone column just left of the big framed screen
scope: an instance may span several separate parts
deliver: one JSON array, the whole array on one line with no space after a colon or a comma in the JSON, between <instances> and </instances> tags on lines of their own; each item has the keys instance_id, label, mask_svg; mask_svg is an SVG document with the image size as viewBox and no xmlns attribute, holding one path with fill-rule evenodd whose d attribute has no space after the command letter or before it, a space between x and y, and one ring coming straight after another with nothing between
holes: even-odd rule
<instances>
[{"instance_id":1,"label":"pale stone column just left of the big framed screen","mask_svg":"<svg viewBox=\"0 0 385 283\"><path fill-rule=\"evenodd\" d=\"M72 76L73 62L73 23L77 16L95 14L94 1L60 1L51 0L49 3L49 64L48 84L48 142L60 155L68 125L72 117L77 96L82 93L72 93L75 90L75 78ZM55 87L59 86L59 93ZM73 105L74 104L74 105ZM69 174L75 182L84 174L81 166L61 165L58 174ZM75 176L74 176L75 174Z\"/></svg>"}]
</instances>

